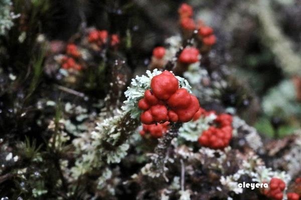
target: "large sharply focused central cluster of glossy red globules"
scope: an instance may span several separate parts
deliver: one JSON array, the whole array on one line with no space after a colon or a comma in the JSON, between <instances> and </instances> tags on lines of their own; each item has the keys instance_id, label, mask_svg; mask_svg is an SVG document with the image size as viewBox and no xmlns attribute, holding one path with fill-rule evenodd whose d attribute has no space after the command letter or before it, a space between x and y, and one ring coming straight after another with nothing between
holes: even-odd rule
<instances>
[{"instance_id":1,"label":"large sharply focused central cluster of glossy red globules","mask_svg":"<svg viewBox=\"0 0 301 200\"><path fill-rule=\"evenodd\" d=\"M185 88L179 88L178 79L169 71L154 76L150 88L138 102L138 107L143 110L140 120L144 124L187 122L200 109L197 97Z\"/></svg>"}]
</instances>

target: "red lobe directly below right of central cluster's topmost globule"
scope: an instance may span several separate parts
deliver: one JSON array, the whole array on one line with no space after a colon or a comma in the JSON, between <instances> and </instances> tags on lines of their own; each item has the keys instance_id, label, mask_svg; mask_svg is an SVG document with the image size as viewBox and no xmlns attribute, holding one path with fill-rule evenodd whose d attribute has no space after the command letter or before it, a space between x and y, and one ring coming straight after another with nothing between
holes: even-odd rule
<instances>
[{"instance_id":1,"label":"red lobe directly below right of central cluster's topmost globule","mask_svg":"<svg viewBox=\"0 0 301 200\"><path fill-rule=\"evenodd\" d=\"M187 108L191 102L190 93L184 89L178 89L171 97L168 99L168 105L173 109Z\"/></svg>"}]
</instances>

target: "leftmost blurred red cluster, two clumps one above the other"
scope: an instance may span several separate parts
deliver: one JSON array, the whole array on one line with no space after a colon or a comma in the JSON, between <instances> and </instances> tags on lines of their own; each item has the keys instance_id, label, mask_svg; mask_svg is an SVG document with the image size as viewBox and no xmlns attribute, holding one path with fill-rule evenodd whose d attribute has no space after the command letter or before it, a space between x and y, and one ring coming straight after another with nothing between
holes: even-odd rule
<instances>
[{"instance_id":1,"label":"leftmost blurred red cluster, two clumps one above the other","mask_svg":"<svg viewBox=\"0 0 301 200\"><path fill-rule=\"evenodd\" d=\"M66 54L61 60L62 67L64 69L81 70L82 66L76 61L76 59L80 58L81 54L74 43L67 44Z\"/></svg>"}]
</instances>

